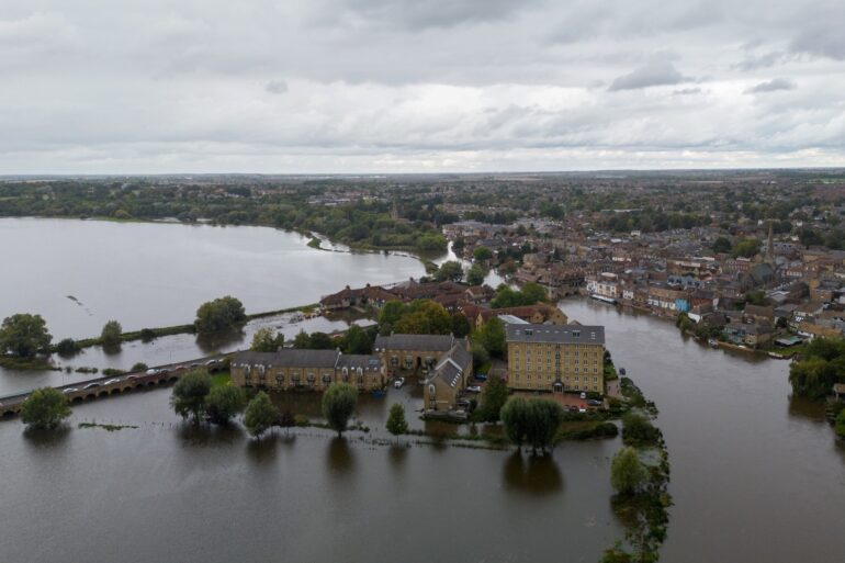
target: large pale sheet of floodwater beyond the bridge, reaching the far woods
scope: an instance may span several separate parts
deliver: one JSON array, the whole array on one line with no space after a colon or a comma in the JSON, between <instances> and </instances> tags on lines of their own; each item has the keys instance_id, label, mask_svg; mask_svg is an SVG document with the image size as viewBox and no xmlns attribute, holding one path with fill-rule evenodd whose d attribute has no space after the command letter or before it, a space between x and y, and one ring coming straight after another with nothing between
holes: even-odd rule
<instances>
[{"instance_id":1,"label":"large pale sheet of floodwater beyond the bridge, reaching the far woods","mask_svg":"<svg viewBox=\"0 0 845 563\"><path fill-rule=\"evenodd\" d=\"M410 256L316 250L267 227L0 218L0 318L41 314L56 341L111 319L124 330L192 323L224 295L259 313L425 274Z\"/></svg>"}]
</instances>

